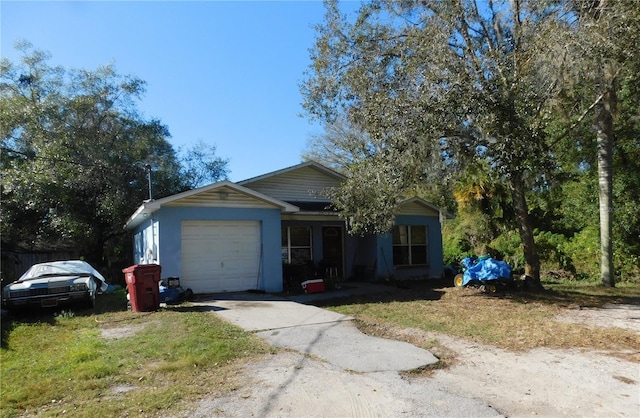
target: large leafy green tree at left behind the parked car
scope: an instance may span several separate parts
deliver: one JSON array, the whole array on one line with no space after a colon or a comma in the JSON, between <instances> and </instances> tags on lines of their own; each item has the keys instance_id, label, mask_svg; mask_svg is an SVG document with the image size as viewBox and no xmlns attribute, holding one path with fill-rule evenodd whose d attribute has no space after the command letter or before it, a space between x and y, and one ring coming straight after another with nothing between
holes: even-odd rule
<instances>
[{"instance_id":1,"label":"large leafy green tree at left behind the parked car","mask_svg":"<svg viewBox=\"0 0 640 418\"><path fill-rule=\"evenodd\" d=\"M0 67L2 241L5 248L79 251L96 266L128 260L123 225L148 195L226 176L215 148L187 151L183 166L169 130L137 111L145 83L113 65L75 70L18 45Z\"/></svg>"}]
</instances>

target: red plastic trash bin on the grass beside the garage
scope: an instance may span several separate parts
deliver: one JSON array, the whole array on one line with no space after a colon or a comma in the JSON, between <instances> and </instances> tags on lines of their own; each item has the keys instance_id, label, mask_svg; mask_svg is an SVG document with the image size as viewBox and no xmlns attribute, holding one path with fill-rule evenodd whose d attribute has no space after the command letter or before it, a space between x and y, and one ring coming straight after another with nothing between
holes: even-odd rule
<instances>
[{"instance_id":1,"label":"red plastic trash bin on the grass beside the garage","mask_svg":"<svg viewBox=\"0 0 640 418\"><path fill-rule=\"evenodd\" d=\"M157 311L160 308L160 272L158 264L136 264L122 270L133 312Z\"/></svg>"}]
</instances>

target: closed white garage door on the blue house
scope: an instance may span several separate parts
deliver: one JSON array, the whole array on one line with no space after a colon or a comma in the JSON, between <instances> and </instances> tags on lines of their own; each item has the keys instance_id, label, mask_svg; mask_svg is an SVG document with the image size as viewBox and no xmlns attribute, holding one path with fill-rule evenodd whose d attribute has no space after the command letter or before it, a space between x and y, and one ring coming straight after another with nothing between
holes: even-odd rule
<instances>
[{"instance_id":1,"label":"closed white garage door on the blue house","mask_svg":"<svg viewBox=\"0 0 640 418\"><path fill-rule=\"evenodd\" d=\"M256 289L260 274L260 222L182 222L180 284L194 293Z\"/></svg>"}]
</instances>

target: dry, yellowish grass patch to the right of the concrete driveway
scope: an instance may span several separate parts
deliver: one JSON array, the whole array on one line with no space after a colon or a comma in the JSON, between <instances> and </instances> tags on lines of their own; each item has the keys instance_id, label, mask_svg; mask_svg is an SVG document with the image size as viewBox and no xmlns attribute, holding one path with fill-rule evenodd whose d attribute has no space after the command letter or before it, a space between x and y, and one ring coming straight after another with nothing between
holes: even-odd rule
<instances>
[{"instance_id":1,"label":"dry, yellowish grass patch to the right of the concrete driveway","mask_svg":"<svg viewBox=\"0 0 640 418\"><path fill-rule=\"evenodd\" d=\"M367 333L402 338L430 348L432 339L398 329L444 333L480 344L522 351L536 347L591 348L638 353L640 336L620 328L594 328L554 317L567 310L619 303L640 303L640 286L604 288L596 283L545 282L546 291L486 294L424 282L406 282L376 297L326 302L326 307L354 316ZM638 359L631 358L638 361Z\"/></svg>"}]
</instances>

